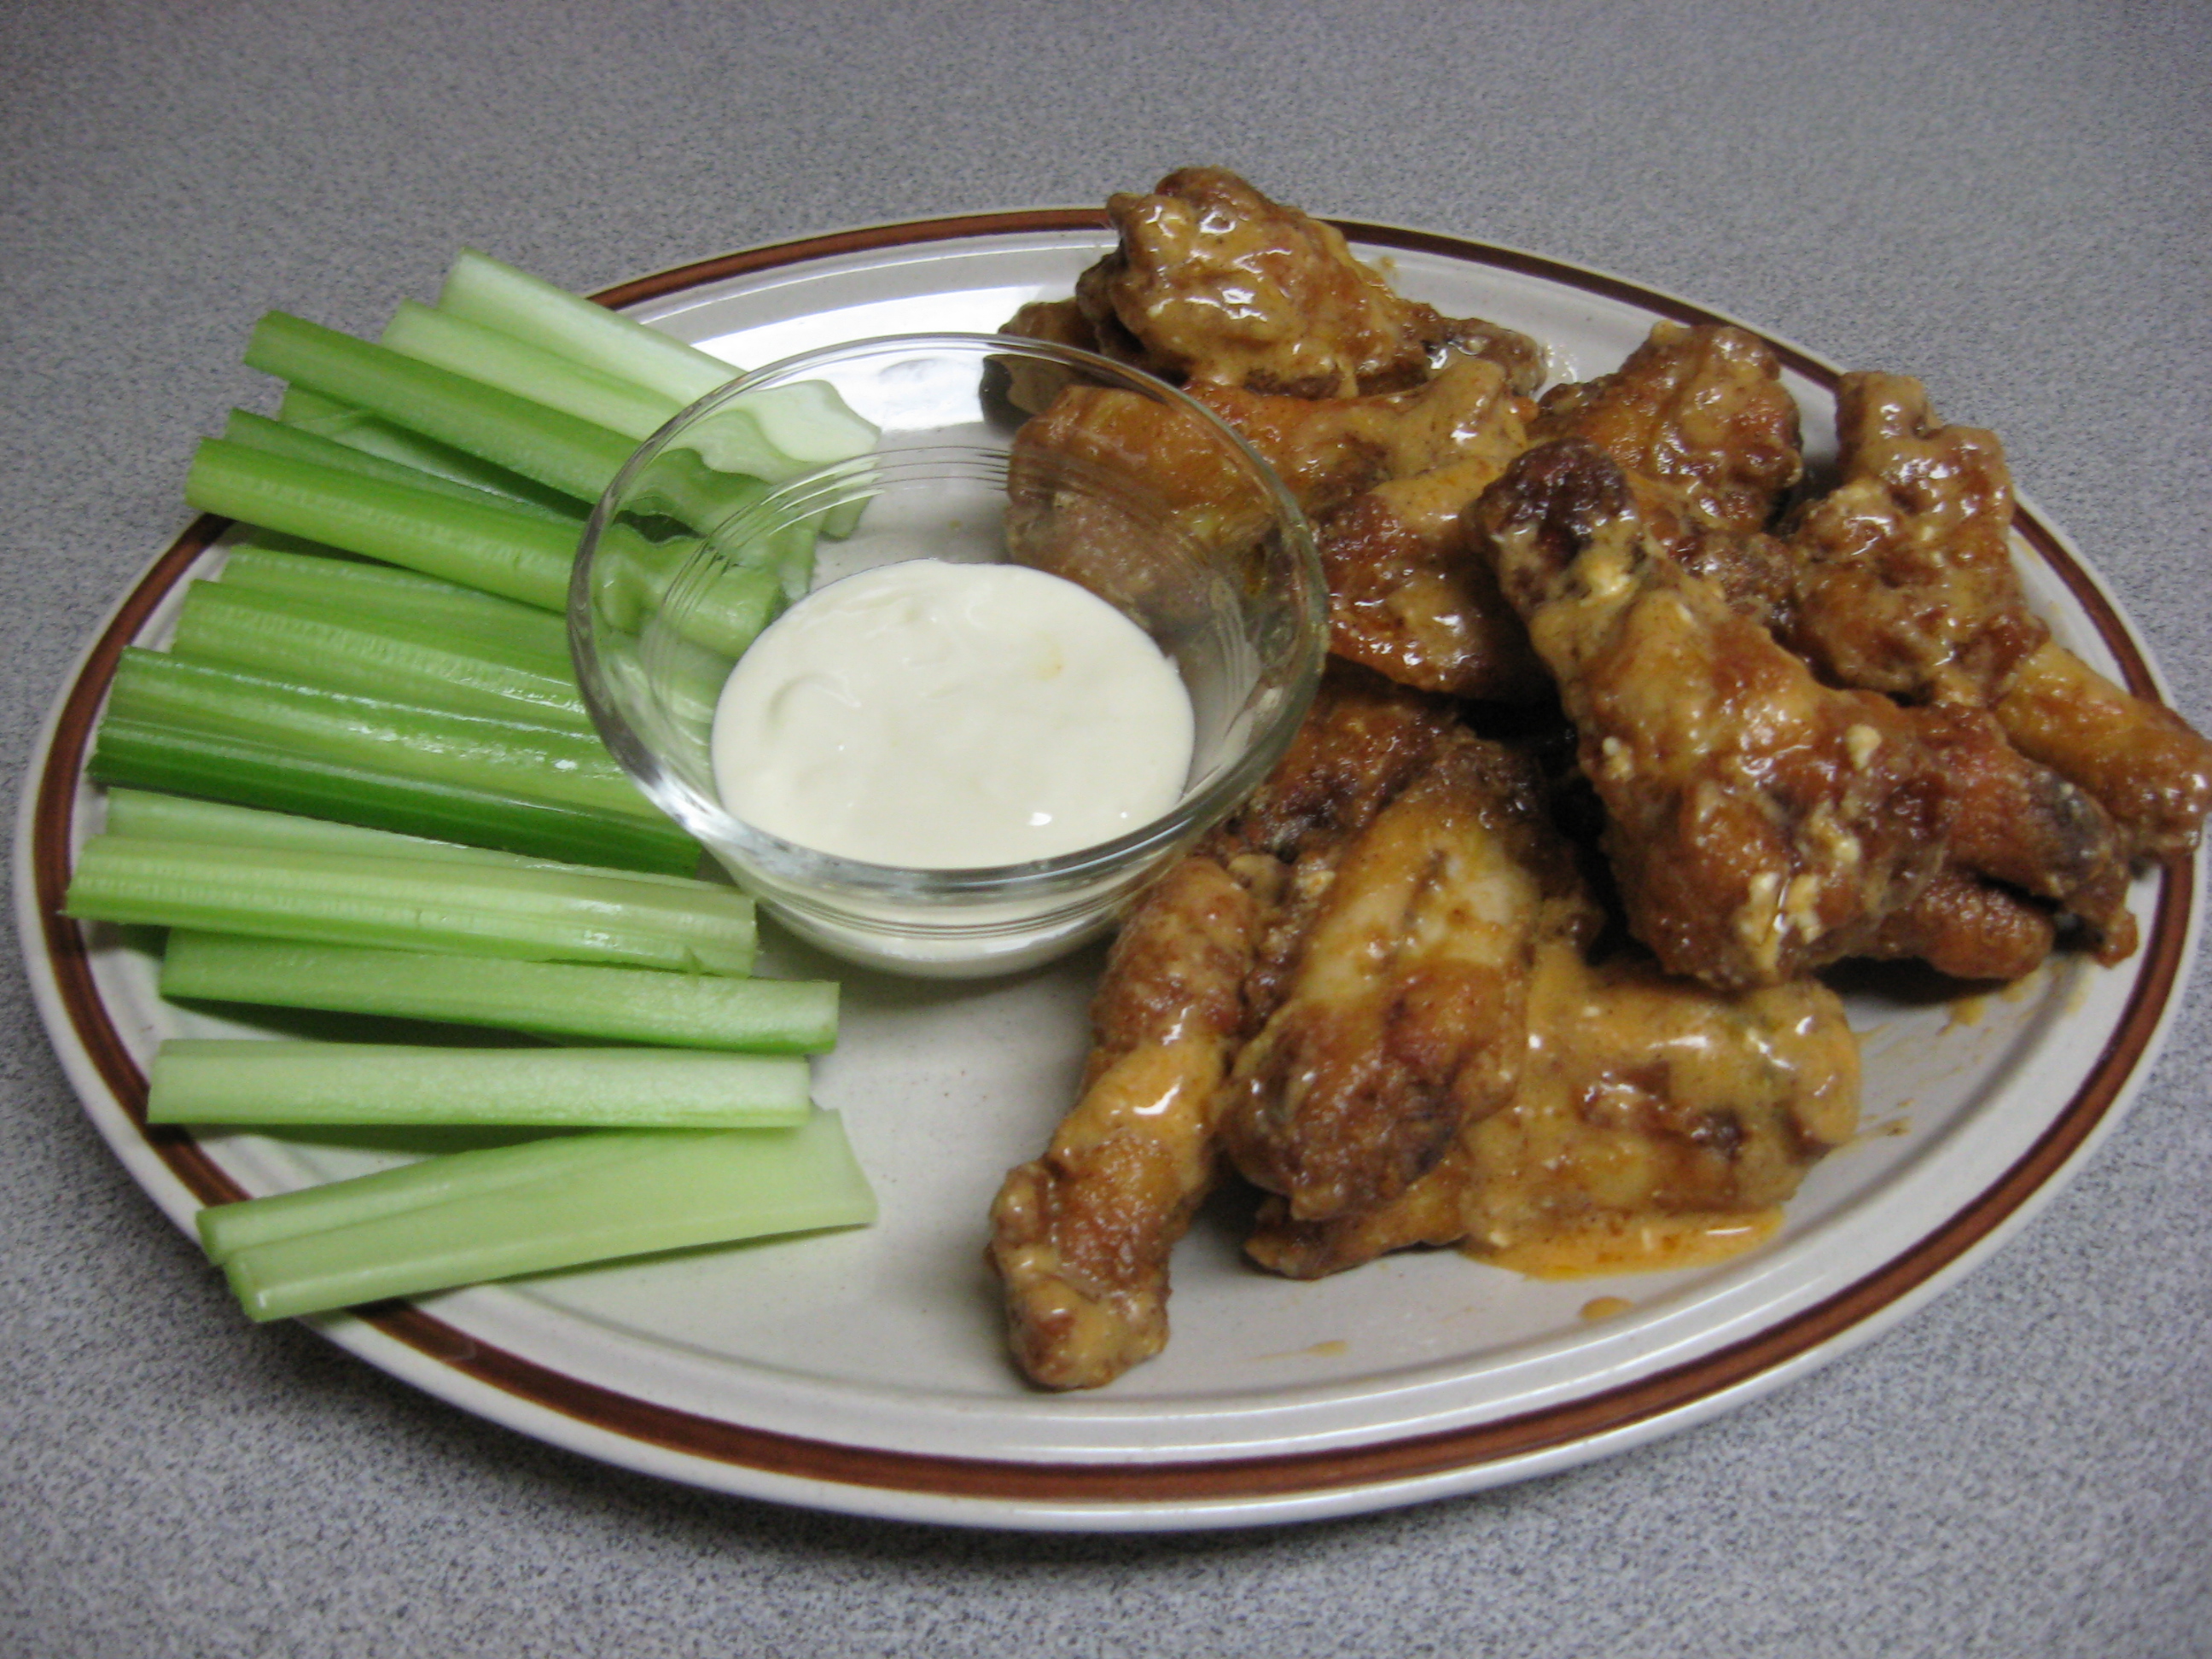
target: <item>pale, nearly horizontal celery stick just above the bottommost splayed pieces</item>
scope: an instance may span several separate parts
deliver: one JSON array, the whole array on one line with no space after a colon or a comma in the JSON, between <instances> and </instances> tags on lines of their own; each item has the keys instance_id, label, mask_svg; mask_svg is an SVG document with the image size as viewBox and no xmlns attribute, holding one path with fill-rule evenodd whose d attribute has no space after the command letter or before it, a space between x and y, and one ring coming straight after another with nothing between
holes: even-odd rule
<instances>
[{"instance_id":1,"label":"pale, nearly horizontal celery stick just above the bottommost splayed pieces","mask_svg":"<svg viewBox=\"0 0 2212 1659\"><path fill-rule=\"evenodd\" d=\"M148 1124L794 1128L807 1062L699 1048L425 1048L170 1037Z\"/></svg>"}]
</instances>

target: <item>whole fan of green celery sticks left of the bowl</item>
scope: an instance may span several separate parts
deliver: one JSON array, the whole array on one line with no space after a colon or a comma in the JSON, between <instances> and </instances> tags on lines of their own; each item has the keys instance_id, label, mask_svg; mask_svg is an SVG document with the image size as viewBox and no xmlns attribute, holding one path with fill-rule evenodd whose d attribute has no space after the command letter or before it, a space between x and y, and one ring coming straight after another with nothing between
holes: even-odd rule
<instances>
[{"instance_id":1,"label":"whole fan of green celery sticks left of the bowl","mask_svg":"<svg viewBox=\"0 0 2212 1659\"><path fill-rule=\"evenodd\" d=\"M246 363L279 416L232 411L186 484L241 535L122 655L66 909L166 927L166 998L549 1040L161 1044L153 1124L542 1130L201 1210L246 1312L874 1221L807 1093L836 984L750 978L752 902L695 878L568 664L591 504L737 369L478 252L380 343L272 312ZM717 465L763 482L874 442L825 387L734 431Z\"/></svg>"}]
</instances>

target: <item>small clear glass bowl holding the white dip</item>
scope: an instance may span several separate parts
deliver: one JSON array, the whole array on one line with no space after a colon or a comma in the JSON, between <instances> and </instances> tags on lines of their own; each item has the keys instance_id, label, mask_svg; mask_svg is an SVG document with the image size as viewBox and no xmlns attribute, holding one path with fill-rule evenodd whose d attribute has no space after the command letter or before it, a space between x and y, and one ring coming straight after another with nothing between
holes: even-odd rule
<instances>
[{"instance_id":1,"label":"small clear glass bowl holding the white dip","mask_svg":"<svg viewBox=\"0 0 2212 1659\"><path fill-rule=\"evenodd\" d=\"M779 405L823 385L880 436L748 478ZM1095 847L982 869L841 858L728 812L712 723L750 633L810 588L909 557L1046 568L1141 626L1194 714L1175 807ZM1104 931L1265 776L1321 675L1327 595L1281 480L1175 387L1064 345L918 334L757 369L648 438L584 531L568 633L608 750L790 931L867 967L964 978Z\"/></svg>"}]
</instances>

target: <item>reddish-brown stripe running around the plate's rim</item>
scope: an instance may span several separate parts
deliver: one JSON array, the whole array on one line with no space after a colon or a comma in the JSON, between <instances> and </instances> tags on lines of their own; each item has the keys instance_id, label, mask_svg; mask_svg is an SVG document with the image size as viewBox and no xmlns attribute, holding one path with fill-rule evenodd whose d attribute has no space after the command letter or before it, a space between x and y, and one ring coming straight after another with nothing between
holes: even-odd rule
<instances>
[{"instance_id":1,"label":"reddish-brown stripe running around the plate's rim","mask_svg":"<svg viewBox=\"0 0 2212 1659\"><path fill-rule=\"evenodd\" d=\"M719 259L706 259L677 270L641 276L599 294L611 305L659 299L706 283L728 281L759 270L869 252L929 241L1035 234L1055 230L1097 230L1106 219L1091 208L964 215L925 219L898 226L845 230L827 237L754 248ZM1385 248L1407 248L1493 265L1522 274L1619 299L1644 310L1688 323L1723 321L1712 312L1655 294L1613 276L1595 276L1537 254L1489 248L1394 226L1338 221L1356 241ZM1790 367L1823 387L1834 387L1836 372L1803 352L1774 343ZM2152 681L2143 655L2121 626L2119 615L2099 586L2079 568L2053 531L2028 511L2017 529L2035 553L2059 575L2088 613L2099 637L2121 664L2130 690L2150 695ZM40 776L33 816L33 883L49 962L53 964L62 1004L84 1044L93 1068L122 1104L126 1115L170 1172L204 1203L246 1197L239 1186L184 1130L148 1128L144 1121L146 1079L115 1031L91 973L84 933L62 914L73 845L73 812L77 779L93 739L93 726L106 697L115 664L146 626L148 617L186 577L190 566L223 531L223 520L199 518L139 580L102 633L86 659L84 672L64 701L53 748ZM874 1486L889 1491L936 1493L947 1498L1026 1500L1073 1504L1126 1502L1234 1502L1294 1493L1327 1493L1385 1482L1407 1482L1455 1469L1473 1469L1506 1458L1520 1458L1562 1444L1619 1433L1686 1409L1721 1391L1739 1387L1787 1365L1825 1343L1874 1318L1885 1307L1927 1285L1978 1243L1989 1239L2015 1214L2095 1133L2128 1082L2159 1024L2174 980L2188 916L2197 894L2194 865L2177 860L2166 867L2154 900L2154 920L2137 964L2135 993L2126 1013L2097 1057L2095 1068L2068 1102L2066 1110L1989 1190L1958 1210L1942 1228L1913 1250L1836 1296L1809 1307L1781 1325L1743 1343L1717 1349L1670 1371L1661 1371L1619 1389L1608 1389L1568 1405L1531 1411L1495 1422L1447 1429L1438 1433L1387 1440L1332 1451L1292 1451L1261 1458L1225 1458L1208 1462L1166 1464L1082 1464L1082 1462L1000 1462L987 1458L951 1458L874 1447L847 1447L830 1440L748 1429L743 1425L677 1411L615 1389L553 1371L535 1360L487 1347L467 1332L425 1314L409 1303L385 1303L361 1314L385 1336L405 1343L458 1376L495 1387L531 1405L568 1416L606 1433L639 1444L661 1447L703 1462L745 1467L761 1473L830 1484Z\"/></svg>"}]
</instances>

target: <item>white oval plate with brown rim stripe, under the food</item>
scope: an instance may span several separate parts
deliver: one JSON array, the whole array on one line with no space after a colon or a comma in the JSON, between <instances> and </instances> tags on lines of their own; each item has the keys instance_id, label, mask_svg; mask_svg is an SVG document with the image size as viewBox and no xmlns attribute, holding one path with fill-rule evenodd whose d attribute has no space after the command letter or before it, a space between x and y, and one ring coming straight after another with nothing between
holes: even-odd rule
<instances>
[{"instance_id":1,"label":"white oval plate with brown rim stripe, under the food","mask_svg":"<svg viewBox=\"0 0 2212 1659\"><path fill-rule=\"evenodd\" d=\"M1405 292L1546 341L1553 372L1615 367L1657 316L1714 314L1531 254L1349 226ZM940 219L703 261L608 294L739 361L909 330L991 330L1066 294L1108 243L1088 210ZM1814 449L1834 369L1776 343ZM1911 365L1902 365L1911 367ZM161 641L219 557L197 522L122 599L42 739L18 827L18 920L86 1110L179 1223L206 1201L389 1161L365 1146L148 1130L164 1035L239 1031L164 1004L153 958L58 902L100 823L88 734L115 653ZM2154 670L2115 599L2033 509L2020 551L2059 637L2139 690ZM1053 1528L1285 1522L1462 1493L1708 1418L1818 1365L1969 1270L2112 1128L2179 1006L2197 867L2137 885L2143 949L2059 958L1964 1004L1851 995L1867 1133L1820 1164L1781 1234L1732 1263L1531 1281L1451 1252L1321 1283L1243 1265L1237 1217L1177 1256L1168 1352L1084 1396L1026 1389L982 1265L1002 1170L1071 1099L1097 956L958 987L847 975L818 1097L883 1197L876 1228L661 1256L319 1318L334 1343L467 1411L608 1462L865 1515ZM785 971L830 971L785 951ZM1584 1318L1599 1296L1628 1312Z\"/></svg>"}]
</instances>

